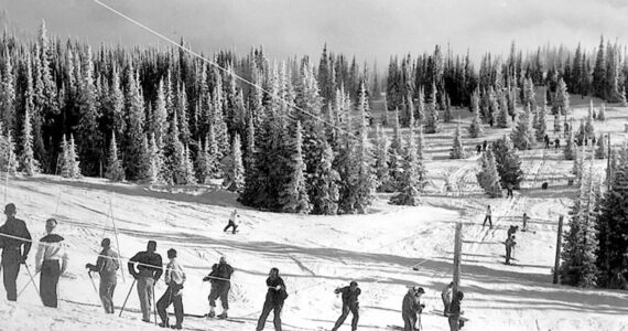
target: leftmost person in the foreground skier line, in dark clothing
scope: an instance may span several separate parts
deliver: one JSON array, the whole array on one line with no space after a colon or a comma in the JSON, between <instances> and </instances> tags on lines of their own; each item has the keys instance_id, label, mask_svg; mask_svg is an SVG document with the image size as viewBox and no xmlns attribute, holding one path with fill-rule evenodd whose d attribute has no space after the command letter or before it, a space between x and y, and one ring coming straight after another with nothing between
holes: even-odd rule
<instances>
[{"instance_id":1,"label":"leftmost person in the foreground skier line, in dark clothing","mask_svg":"<svg viewBox=\"0 0 628 331\"><path fill-rule=\"evenodd\" d=\"M15 280L20 274L20 265L26 264L29 252L31 252L31 233L26 228L24 221L15 218L15 205L9 203L4 207L7 222L0 226L0 234L8 236L0 237L0 247L2 248L2 277L4 289L7 290L7 300L18 300L18 289ZM18 239L20 237L22 239ZM22 245L24 249L22 250Z\"/></svg>"}]
</instances>

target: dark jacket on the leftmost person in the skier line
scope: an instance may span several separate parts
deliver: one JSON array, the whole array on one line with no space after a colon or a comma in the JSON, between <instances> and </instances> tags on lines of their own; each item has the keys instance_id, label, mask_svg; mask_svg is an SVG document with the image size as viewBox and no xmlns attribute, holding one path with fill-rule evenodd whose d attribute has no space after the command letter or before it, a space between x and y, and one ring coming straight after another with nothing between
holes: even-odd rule
<instances>
[{"instance_id":1,"label":"dark jacket on the leftmost person in the skier line","mask_svg":"<svg viewBox=\"0 0 628 331\"><path fill-rule=\"evenodd\" d=\"M9 218L0 226L0 233L10 236L21 237L21 239L0 236L0 247L2 249L2 264L17 264L26 259L31 252L32 243L31 233L26 228L26 223L19 218ZM24 252L21 252L21 246L24 245Z\"/></svg>"}]
</instances>

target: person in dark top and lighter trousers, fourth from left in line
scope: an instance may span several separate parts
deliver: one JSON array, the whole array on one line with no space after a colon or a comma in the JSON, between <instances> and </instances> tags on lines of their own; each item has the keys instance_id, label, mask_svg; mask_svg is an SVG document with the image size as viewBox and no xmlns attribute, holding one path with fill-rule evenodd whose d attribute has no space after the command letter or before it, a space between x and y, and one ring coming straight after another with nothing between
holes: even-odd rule
<instances>
[{"instance_id":1,"label":"person in dark top and lighter trousers, fourth from left in line","mask_svg":"<svg viewBox=\"0 0 628 331\"><path fill-rule=\"evenodd\" d=\"M155 253L156 243L149 241L145 252L139 252L129 259L129 274L138 281L138 296L142 309L142 321L151 322L151 301L154 296L155 282L163 274L161 255ZM138 270L136 270L138 265Z\"/></svg>"}]
</instances>

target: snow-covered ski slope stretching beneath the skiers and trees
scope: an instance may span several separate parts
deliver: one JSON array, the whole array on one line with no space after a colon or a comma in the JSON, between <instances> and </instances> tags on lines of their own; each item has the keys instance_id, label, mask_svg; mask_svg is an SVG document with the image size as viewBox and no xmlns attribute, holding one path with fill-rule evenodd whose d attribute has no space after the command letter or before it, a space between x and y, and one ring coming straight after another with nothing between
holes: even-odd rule
<instances>
[{"instance_id":1,"label":"snow-covered ski slope stretching beneath the skiers and trees","mask_svg":"<svg viewBox=\"0 0 628 331\"><path fill-rule=\"evenodd\" d=\"M613 132L616 142L625 139L625 111L608 110L611 119L597 122L598 130ZM574 116L585 113L581 108ZM459 114L466 125L468 111ZM553 120L548 124L551 128ZM434 311L442 309L440 291L452 278L457 222L464 224L463 310L470 319L464 330L628 330L627 292L552 284L557 218L566 216L575 193L575 188L566 184L573 163L562 160L560 151L526 151L521 154L527 173L522 190L513 199L490 200L476 183L475 153L466 160L447 159L453 129L450 124L441 134L425 135L431 185L423 205L391 206L386 202L388 195L381 194L368 215L258 212L243 209L235 194L215 186L149 189L98 179L11 178L8 202L17 204L18 217L26 221L34 237L43 235L47 217L59 220L58 232L71 246L71 266L59 281L63 301L56 310L43 308L32 286L17 303L0 293L0 330L159 330L141 322L134 290L121 318L106 316L84 269L86 263L96 260L100 239L115 238L110 212L123 257L143 250L149 239L158 242L158 253L164 259L170 247L178 250L188 276L184 289L187 313L207 312L209 286L202 278L220 255L236 268L229 314L243 323L191 317L184 322L191 330L253 330L271 267L280 269L290 295L282 313L284 330L331 330L342 305L333 290L350 280L362 289L359 330L402 325L401 300L407 287L414 285L426 291L425 330L448 330L447 320ZM508 130L489 130L488 139L505 132ZM468 151L484 139L465 139ZM596 167L602 173L604 161L596 161ZM453 192L444 190L446 178L454 184ZM541 190L543 182L549 183L549 190ZM492 229L481 227L487 204L494 207ZM223 233L234 207L241 209L242 215L236 235ZM506 229L510 224L520 225L523 212L531 217L531 231L517 234L516 265L507 266ZM31 265L33 256L34 250ZM117 310L132 281L126 266L123 271L126 277L120 277L113 298ZM22 269L18 288L28 280ZM164 290L160 281L158 296ZM272 317L267 330L273 329L271 321ZM349 321L340 328L349 329Z\"/></svg>"}]
</instances>

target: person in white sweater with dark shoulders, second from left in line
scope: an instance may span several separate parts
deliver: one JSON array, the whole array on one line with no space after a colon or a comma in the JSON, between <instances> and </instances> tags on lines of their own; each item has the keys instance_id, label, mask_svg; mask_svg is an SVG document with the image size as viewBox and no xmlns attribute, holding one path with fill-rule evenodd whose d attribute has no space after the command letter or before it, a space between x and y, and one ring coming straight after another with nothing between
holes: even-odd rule
<instances>
[{"instance_id":1,"label":"person in white sweater with dark shoulders, second from left in line","mask_svg":"<svg viewBox=\"0 0 628 331\"><path fill-rule=\"evenodd\" d=\"M57 307L56 286L58 277L67 268L64 238L54 233L56 225L55 218L46 221L46 235L40 239L35 255L35 270L42 273L40 275L40 296L44 306L51 308Z\"/></svg>"}]
</instances>

